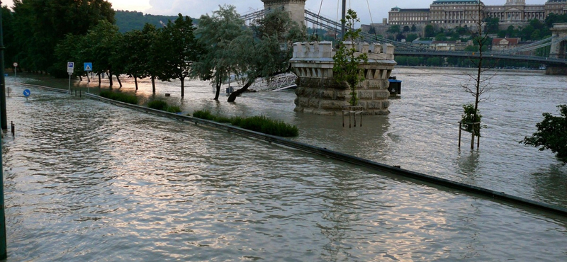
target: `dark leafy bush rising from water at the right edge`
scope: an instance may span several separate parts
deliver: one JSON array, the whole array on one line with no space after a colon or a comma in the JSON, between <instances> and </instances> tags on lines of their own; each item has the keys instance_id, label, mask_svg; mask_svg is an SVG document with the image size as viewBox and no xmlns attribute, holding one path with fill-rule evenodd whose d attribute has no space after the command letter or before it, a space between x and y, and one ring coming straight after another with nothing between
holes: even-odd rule
<instances>
[{"instance_id":1,"label":"dark leafy bush rising from water at the right edge","mask_svg":"<svg viewBox=\"0 0 567 262\"><path fill-rule=\"evenodd\" d=\"M537 132L531 137L524 137L520 143L539 147L540 151L550 149L563 163L567 163L567 105L557 108L561 116L543 113L544 120L536 124Z\"/></svg>"}]
</instances>

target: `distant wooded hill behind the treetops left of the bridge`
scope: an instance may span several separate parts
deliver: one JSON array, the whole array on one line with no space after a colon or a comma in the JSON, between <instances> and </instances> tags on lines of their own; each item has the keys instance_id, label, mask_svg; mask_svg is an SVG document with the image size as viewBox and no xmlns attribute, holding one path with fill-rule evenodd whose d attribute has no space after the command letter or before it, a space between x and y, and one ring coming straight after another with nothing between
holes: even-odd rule
<instances>
[{"instance_id":1,"label":"distant wooded hill behind the treetops left of the bridge","mask_svg":"<svg viewBox=\"0 0 567 262\"><path fill-rule=\"evenodd\" d=\"M114 18L116 18L116 25L120 28L120 32L125 33L135 29L142 30L145 23L150 23L159 28L167 24L169 20L174 21L177 16L156 16L137 11L116 10ZM193 23L197 23L195 18L193 18Z\"/></svg>"}]
</instances>

